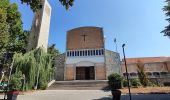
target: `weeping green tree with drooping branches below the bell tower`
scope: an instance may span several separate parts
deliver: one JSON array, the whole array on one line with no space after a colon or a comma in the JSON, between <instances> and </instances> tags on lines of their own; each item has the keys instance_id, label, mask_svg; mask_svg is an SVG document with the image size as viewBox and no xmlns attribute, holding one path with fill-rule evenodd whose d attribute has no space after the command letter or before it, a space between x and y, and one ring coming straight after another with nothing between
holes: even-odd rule
<instances>
[{"instance_id":1,"label":"weeping green tree with drooping branches below the bell tower","mask_svg":"<svg viewBox=\"0 0 170 100\"><path fill-rule=\"evenodd\" d=\"M19 72L25 75L27 89L33 89L35 84L39 89L45 89L53 75L51 56L41 48L25 54L16 53L13 74Z\"/></svg>"}]
</instances>

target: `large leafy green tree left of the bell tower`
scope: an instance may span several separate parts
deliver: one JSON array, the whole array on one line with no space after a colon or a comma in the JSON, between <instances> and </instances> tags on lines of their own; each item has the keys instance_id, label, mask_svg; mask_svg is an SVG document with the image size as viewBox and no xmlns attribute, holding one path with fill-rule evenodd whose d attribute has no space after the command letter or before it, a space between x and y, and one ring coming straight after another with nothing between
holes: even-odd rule
<instances>
[{"instance_id":1,"label":"large leafy green tree left of the bell tower","mask_svg":"<svg viewBox=\"0 0 170 100\"><path fill-rule=\"evenodd\" d=\"M10 4L9 0L0 0L1 39L3 41L0 50L8 52L22 52L26 47L29 32L23 31L21 13L17 4ZM1 38L0 37L0 38ZM0 41L1 41L0 40Z\"/></svg>"}]
</instances>

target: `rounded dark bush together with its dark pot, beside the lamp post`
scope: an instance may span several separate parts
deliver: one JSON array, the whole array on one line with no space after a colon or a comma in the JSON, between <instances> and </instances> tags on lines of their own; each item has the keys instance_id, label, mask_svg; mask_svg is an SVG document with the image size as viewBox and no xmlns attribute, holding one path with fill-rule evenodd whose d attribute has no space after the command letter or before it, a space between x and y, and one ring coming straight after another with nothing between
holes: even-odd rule
<instances>
[{"instance_id":1,"label":"rounded dark bush together with its dark pot, beside the lamp post","mask_svg":"<svg viewBox=\"0 0 170 100\"><path fill-rule=\"evenodd\" d=\"M113 100L120 100L121 91L119 89L122 88L122 77L117 73L111 74L108 76L108 84L112 92Z\"/></svg>"}]
</instances>

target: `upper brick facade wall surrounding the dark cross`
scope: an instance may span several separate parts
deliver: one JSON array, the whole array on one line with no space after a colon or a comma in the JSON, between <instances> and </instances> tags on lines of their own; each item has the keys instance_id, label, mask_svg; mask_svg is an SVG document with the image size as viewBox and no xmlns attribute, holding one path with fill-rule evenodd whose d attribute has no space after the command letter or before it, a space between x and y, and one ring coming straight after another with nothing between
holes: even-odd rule
<instances>
[{"instance_id":1,"label":"upper brick facade wall surrounding the dark cross","mask_svg":"<svg viewBox=\"0 0 170 100\"><path fill-rule=\"evenodd\" d=\"M86 35L85 41L82 35ZM67 32L67 50L104 48L103 40L102 28L75 28Z\"/></svg>"}]
</instances>

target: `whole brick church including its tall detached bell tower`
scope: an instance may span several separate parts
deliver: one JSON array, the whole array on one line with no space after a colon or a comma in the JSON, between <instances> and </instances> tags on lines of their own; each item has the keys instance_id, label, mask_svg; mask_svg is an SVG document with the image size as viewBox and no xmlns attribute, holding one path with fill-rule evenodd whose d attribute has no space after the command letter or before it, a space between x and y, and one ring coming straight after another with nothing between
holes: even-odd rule
<instances>
[{"instance_id":1,"label":"whole brick church including its tall detached bell tower","mask_svg":"<svg viewBox=\"0 0 170 100\"><path fill-rule=\"evenodd\" d=\"M27 50L42 47L47 51L51 19L48 0L35 15ZM56 80L106 80L111 73L120 73L119 54L105 49L103 29L79 27L67 32L66 52L55 60Z\"/></svg>"}]
</instances>

